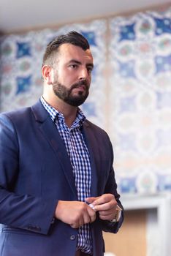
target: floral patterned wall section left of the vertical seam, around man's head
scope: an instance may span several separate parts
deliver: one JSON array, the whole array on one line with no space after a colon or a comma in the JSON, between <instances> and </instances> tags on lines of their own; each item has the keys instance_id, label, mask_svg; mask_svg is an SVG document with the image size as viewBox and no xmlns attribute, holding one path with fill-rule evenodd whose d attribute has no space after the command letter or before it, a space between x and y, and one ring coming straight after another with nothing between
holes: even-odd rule
<instances>
[{"instance_id":1,"label":"floral patterned wall section left of the vertical seam, around man's head","mask_svg":"<svg viewBox=\"0 0 171 256\"><path fill-rule=\"evenodd\" d=\"M104 127L104 20L87 24L72 24L60 29L43 29L26 34L1 37L1 112L34 104L42 95L42 55L51 39L67 31L79 31L89 41L94 54L94 74L91 95L83 105L86 116ZM96 89L98 86L98 90ZM99 99L96 101L96 99Z\"/></svg>"}]
</instances>

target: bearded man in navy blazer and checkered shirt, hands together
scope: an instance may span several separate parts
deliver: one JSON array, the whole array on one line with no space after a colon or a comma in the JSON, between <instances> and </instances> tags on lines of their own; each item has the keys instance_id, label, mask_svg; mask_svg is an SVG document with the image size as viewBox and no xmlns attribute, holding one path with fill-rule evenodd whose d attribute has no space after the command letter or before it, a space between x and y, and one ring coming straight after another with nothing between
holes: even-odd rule
<instances>
[{"instance_id":1,"label":"bearded man in navy blazer and checkered shirt, hands together","mask_svg":"<svg viewBox=\"0 0 171 256\"><path fill-rule=\"evenodd\" d=\"M47 45L43 96L0 115L0 255L104 255L123 211L107 134L78 108L93 57L76 31Z\"/></svg>"}]
</instances>

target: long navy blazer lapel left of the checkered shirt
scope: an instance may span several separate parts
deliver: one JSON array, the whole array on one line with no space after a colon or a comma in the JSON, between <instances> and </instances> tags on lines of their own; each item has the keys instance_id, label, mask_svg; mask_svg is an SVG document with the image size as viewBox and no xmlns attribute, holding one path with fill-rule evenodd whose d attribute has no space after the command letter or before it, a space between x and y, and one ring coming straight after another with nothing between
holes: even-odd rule
<instances>
[{"instance_id":1,"label":"long navy blazer lapel left of the checkered shirt","mask_svg":"<svg viewBox=\"0 0 171 256\"><path fill-rule=\"evenodd\" d=\"M64 142L58 133L58 129L56 129L56 124L53 123L41 102L37 102L36 105L32 106L32 110L36 121L39 122L39 129L47 139L48 143L50 143L53 151L55 151L56 157L58 157L58 161L64 170L66 180L68 181L72 192L76 196L75 200L77 200L77 189L75 187L75 178L72 173L72 165L70 163L66 147L64 146Z\"/></svg>"}]
</instances>

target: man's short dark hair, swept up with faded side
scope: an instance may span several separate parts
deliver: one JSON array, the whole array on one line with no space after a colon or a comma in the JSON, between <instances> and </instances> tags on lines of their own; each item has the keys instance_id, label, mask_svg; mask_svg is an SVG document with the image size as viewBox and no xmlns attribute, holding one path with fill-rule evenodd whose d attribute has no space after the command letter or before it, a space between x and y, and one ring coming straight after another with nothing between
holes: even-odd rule
<instances>
[{"instance_id":1,"label":"man's short dark hair, swept up with faded side","mask_svg":"<svg viewBox=\"0 0 171 256\"><path fill-rule=\"evenodd\" d=\"M42 66L45 64L53 65L56 60L56 53L58 53L59 46L66 43L79 46L83 50L90 48L88 40L83 37L82 34L79 34L77 31L70 31L67 34L62 34L61 36L54 38L48 43L43 56Z\"/></svg>"}]
</instances>

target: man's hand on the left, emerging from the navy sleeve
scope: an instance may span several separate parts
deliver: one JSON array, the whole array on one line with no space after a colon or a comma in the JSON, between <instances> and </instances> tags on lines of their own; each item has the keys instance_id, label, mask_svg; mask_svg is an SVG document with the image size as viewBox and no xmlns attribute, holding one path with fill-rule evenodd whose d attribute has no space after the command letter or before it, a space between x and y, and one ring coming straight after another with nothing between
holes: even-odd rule
<instances>
[{"instance_id":1,"label":"man's hand on the left, emerging from the navy sleeve","mask_svg":"<svg viewBox=\"0 0 171 256\"><path fill-rule=\"evenodd\" d=\"M78 228L94 222L96 212L83 202L59 200L55 217L73 228Z\"/></svg>"}]
</instances>

